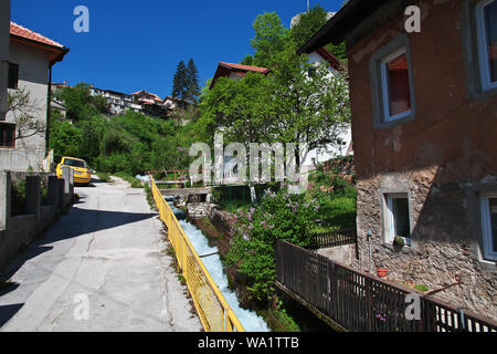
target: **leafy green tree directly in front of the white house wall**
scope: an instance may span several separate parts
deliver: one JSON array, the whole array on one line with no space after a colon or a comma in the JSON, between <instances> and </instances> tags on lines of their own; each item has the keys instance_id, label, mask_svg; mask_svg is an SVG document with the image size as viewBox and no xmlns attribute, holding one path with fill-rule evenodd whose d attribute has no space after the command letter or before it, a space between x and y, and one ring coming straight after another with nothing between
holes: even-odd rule
<instances>
[{"instance_id":1,"label":"leafy green tree directly in front of the white house wall","mask_svg":"<svg viewBox=\"0 0 497 354\"><path fill-rule=\"evenodd\" d=\"M314 66L309 77L306 55L292 48L279 53L279 65L268 77L273 85L275 139L306 143L308 150L339 145L339 136L350 124L348 83L340 74L330 74L329 65ZM297 165L304 156L297 156Z\"/></svg>"}]
</instances>

